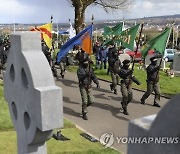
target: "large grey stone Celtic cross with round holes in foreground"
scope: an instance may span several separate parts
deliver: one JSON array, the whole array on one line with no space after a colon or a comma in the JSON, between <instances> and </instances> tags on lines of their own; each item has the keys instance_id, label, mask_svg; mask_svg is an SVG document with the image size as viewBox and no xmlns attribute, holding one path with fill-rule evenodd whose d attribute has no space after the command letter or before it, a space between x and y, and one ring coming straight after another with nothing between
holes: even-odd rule
<instances>
[{"instance_id":1,"label":"large grey stone Celtic cross with round holes in foreground","mask_svg":"<svg viewBox=\"0 0 180 154\"><path fill-rule=\"evenodd\" d=\"M46 153L45 141L63 126L62 89L55 86L40 33L15 32L4 72L4 94L19 154Z\"/></svg>"}]
</instances>

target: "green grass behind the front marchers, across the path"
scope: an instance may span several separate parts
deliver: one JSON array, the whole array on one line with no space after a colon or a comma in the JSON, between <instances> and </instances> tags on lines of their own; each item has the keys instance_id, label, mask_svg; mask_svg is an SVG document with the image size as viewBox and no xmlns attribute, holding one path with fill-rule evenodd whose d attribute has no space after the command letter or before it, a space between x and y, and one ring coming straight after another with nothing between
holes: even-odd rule
<instances>
[{"instance_id":1,"label":"green grass behind the front marchers, across the path","mask_svg":"<svg viewBox=\"0 0 180 154\"><path fill-rule=\"evenodd\" d=\"M68 68L69 71L71 72L76 72L77 66L71 66ZM111 80L111 76L107 75L107 70L95 70L95 74L97 75L98 78L105 79L108 81ZM140 90L146 90L146 71L145 70L139 70L138 69L138 64L135 64L134 67L134 75L138 78L138 80L141 82L141 85L136 85L133 83L133 87L140 89ZM180 77L174 77L171 78L169 76L166 76L163 71L160 71L160 88L161 88L161 93L168 95L168 96L173 96L178 93L180 93Z\"/></svg>"}]
</instances>

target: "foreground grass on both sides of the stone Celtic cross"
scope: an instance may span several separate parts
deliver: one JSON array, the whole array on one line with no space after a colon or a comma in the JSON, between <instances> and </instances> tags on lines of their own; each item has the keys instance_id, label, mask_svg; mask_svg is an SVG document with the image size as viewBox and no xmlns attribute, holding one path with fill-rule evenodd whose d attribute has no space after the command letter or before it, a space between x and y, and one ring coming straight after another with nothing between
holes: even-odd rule
<instances>
[{"instance_id":1,"label":"foreground grass on both sides of the stone Celtic cross","mask_svg":"<svg viewBox=\"0 0 180 154\"><path fill-rule=\"evenodd\" d=\"M56 130L54 131L56 133ZM70 141L47 141L48 154L118 154L111 148L104 148L99 142L93 143L81 137L81 130L64 119L62 134ZM0 80L0 153L17 154L17 136L4 100L3 82Z\"/></svg>"}]
</instances>

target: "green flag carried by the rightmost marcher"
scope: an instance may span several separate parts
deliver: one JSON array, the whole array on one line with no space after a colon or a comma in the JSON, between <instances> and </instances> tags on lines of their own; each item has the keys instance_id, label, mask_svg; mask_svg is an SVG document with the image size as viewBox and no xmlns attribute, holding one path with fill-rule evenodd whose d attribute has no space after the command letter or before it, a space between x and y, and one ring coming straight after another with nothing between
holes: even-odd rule
<instances>
[{"instance_id":1,"label":"green flag carried by the rightmost marcher","mask_svg":"<svg viewBox=\"0 0 180 154\"><path fill-rule=\"evenodd\" d=\"M166 28L160 35L148 41L141 50L142 56L145 58L150 49L156 49L158 52L164 55L164 51L165 51L170 33L171 33L171 28Z\"/></svg>"}]
</instances>

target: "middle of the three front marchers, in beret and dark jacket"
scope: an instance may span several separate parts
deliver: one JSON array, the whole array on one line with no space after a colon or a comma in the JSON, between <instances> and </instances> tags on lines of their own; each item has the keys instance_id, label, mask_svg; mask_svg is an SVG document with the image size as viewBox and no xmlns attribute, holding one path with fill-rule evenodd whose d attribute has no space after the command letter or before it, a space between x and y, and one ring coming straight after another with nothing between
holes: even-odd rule
<instances>
[{"instance_id":1,"label":"middle of the three front marchers, in beret and dark jacket","mask_svg":"<svg viewBox=\"0 0 180 154\"><path fill-rule=\"evenodd\" d=\"M123 67L119 71L119 76L122 78L121 80L121 93L122 93L122 108L123 113L128 115L127 106L131 102L133 94L132 94L132 82L135 82L137 85L140 85L140 82L132 76L132 70L129 70L130 61L124 60Z\"/></svg>"}]
</instances>

